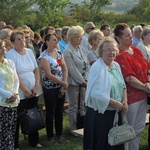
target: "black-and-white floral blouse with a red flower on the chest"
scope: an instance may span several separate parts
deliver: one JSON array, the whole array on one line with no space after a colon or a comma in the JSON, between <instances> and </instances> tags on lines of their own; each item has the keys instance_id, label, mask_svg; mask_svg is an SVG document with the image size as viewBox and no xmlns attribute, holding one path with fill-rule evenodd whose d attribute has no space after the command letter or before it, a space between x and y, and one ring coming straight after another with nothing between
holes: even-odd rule
<instances>
[{"instance_id":1,"label":"black-and-white floral blouse with a red flower on the chest","mask_svg":"<svg viewBox=\"0 0 150 150\"><path fill-rule=\"evenodd\" d=\"M57 78L59 78L60 80L63 79L63 75L62 75L62 58L63 58L63 54L59 51L59 50L55 50L57 55L58 55L58 59L56 60L55 58L53 58L48 52L47 50L44 50L42 52L42 54L40 55L40 58L45 58L49 64L50 64L50 68L51 68L51 73L53 75L55 75ZM60 88L61 85L58 83L53 82L52 80L49 80L44 71L42 70L42 87L46 88L46 89L55 89L55 88Z\"/></svg>"}]
</instances>

